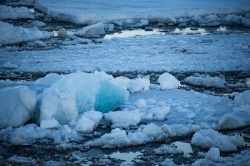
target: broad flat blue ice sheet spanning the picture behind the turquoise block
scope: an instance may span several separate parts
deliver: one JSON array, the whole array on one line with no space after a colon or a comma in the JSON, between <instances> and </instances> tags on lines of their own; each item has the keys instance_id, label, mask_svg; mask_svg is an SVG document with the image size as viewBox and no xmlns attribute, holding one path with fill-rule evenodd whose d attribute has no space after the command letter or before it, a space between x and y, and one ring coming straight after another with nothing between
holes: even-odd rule
<instances>
[{"instance_id":1,"label":"broad flat blue ice sheet spanning the picture behind the turquoise block","mask_svg":"<svg viewBox=\"0 0 250 166\"><path fill-rule=\"evenodd\" d=\"M250 46L241 48L248 41L245 33L136 36L46 51L1 49L0 64L11 62L18 65L15 71L26 72L249 71Z\"/></svg>"}]
</instances>

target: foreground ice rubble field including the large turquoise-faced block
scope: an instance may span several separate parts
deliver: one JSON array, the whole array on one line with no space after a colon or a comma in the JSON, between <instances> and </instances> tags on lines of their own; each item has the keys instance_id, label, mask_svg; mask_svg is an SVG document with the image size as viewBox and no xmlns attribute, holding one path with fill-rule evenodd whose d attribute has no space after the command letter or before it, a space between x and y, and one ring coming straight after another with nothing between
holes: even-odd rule
<instances>
[{"instance_id":1,"label":"foreground ice rubble field including the large turquoise-faced block","mask_svg":"<svg viewBox=\"0 0 250 166\"><path fill-rule=\"evenodd\" d=\"M216 150L197 163L224 163L227 160L220 157L220 152L235 152L245 146L241 135L228 136L216 130L250 124L249 90L230 100L177 89L180 82L169 73L160 75L158 82L114 78L102 72L49 74L34 83L12 82L12 86L19 86L0 90L0 140L26 145L51 139L61 145L80 141L86 147L116 148L194 134L193 145ZM119 110L108 112L119 106ZM23 125L29 119L33 122ZM84 140L84 135L98 136L96 128L107 128L109 124L110 133ZM155 149L159 154L174 154L176 150L169 146ZM246 162L248 155L244 153L248 151L242 153L232 162Z\"/></svg>"}]
</instances>

